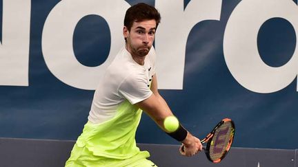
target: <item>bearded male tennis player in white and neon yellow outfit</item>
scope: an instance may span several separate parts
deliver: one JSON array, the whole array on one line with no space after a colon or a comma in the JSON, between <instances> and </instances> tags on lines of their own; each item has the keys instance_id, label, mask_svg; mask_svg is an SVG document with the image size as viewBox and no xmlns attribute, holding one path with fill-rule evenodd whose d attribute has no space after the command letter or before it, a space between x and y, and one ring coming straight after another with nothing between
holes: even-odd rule
<instances>
[{"instance_id":1,"label":"bearded male tennis player in white and neon yellow outfit","mask_svg":"<svg viewBox=\"0 0 298 167\"><path fill-rule=\"evenodd\" d=\"M101 78L88 122L66 166L155 166L146 159L149 153L136 146L135 132L142 110L166 133L163 120L173 115L157 90L152 43L159 21L159 12L145 3L126 11L126 45ZM182 155L192 156L202 149L200 140L182 126L168 134L182 142Z\"/></svg>"}]
</instances>

